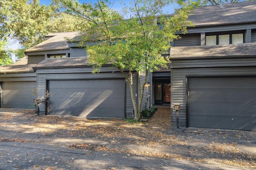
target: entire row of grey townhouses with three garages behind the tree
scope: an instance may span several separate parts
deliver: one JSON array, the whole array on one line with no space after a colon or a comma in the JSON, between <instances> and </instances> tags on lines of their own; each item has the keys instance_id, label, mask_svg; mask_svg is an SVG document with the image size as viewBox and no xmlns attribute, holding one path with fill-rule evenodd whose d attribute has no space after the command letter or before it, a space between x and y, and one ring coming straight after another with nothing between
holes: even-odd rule
<instances>
[{"instance_id":1,"label":"entire row of grey townhouses with three garages behind the tree","mask_svg":"<svg viewBox=\"0 0 256 170\"><path fill-rule=\"evenodd\" d=\"M170 106L176 126L180 104L180 127L256 131L255 9L256 1L196 8L189 17L194 27L178 32L170 49L170 69L148 75L142 109ZM86 51L65 39L78 36L49 34L26 51L27 64L1 66L1 107L29 108L43 98L40 115L132 117L128 82L109 65L92 74ZM138 93L136 72L134 79Z\"/></svg>"}]
</instances>

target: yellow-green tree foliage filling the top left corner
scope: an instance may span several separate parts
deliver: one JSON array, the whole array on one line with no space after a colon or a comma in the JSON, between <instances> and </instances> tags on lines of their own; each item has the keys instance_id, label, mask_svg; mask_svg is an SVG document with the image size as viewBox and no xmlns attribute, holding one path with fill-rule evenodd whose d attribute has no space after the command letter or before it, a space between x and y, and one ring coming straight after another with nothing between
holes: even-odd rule
<instances>
[{"instance_id":1,"label":"yellow-green tree foliage filling the top left corner","mask_svg":"<svg viewBox=\"0 0 256 170\"><path fill-rule=\"evenodd\" d=\"M43 39L52 9L40 6L39 0L1 0L0 13L0 39L12 38L31 47Z\"/></svg>"}]
</instances>

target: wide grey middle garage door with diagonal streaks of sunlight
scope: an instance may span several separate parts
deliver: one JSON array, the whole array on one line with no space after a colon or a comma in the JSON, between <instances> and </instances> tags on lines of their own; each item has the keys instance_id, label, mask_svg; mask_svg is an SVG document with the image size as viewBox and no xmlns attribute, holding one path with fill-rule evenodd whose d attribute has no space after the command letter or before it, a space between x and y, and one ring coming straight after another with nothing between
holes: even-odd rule
<instances>
[{"instance_id":1,"label":"wide grey middle garage door with diagonal streaks of sunlight","mask_svg":"<svg viewBox=\"0 0 256 170\"><path fill-rule=\"evenodd\" d=\"M50 115L124 118L124 80L50 80Z\"/></svg>"}]
</instances>

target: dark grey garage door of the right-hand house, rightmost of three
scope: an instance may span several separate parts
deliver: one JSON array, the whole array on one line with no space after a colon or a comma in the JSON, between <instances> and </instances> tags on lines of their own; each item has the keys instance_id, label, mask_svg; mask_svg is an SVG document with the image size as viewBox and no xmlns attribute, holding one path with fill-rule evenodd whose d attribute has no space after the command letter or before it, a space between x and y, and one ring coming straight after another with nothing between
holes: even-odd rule
<instances>
[{"instance_id":1,"label":"dark grey garage door of the right-hand house, rightmost of three","mask_svg":"<svg viewBox=\"0 0 256 170\"><path fill-rule=\"evenodd\" d=\"M188 78L188 127L256 130L256 77Z\"/></svg>"}]
</instances>

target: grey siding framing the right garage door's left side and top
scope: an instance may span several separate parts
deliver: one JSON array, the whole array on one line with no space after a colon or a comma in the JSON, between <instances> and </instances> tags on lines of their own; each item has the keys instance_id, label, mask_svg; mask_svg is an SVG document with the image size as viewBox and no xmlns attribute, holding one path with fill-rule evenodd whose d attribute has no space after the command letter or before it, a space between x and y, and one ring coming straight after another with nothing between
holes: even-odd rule
<instances>
[{"instance_id":1,"label":"grey siding framing the right garage door's left side and top","mask_svg":"<svg viewBox=\"0 0 256 170\"><path fill-rule=\"evenodd\" d=\"M176 64L175 61L173 64ZM238 76L255 75L256 66L252 67L217 67L217 68L173 68L172 72L172 106L181 104L179 111L180 126L186 126L186 76ZM172 125L176 125L176 111L173 111Z\"/></svg>"}]
</instances>

